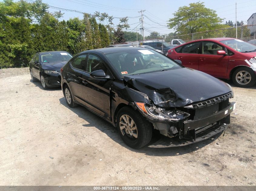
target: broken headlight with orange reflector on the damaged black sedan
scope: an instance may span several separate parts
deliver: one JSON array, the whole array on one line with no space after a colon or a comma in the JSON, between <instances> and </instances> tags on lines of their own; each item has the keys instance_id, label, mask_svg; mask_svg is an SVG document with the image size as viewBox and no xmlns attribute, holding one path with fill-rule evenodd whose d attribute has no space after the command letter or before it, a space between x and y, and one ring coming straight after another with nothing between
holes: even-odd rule
<instances>
[{"instance_id":1,"label":"broken headlight with orange reflector on the damaged black sedan","mask_svg":"<svg viewBox=\"0 0 256 191\"><path fill-rule=\"evenodd\" d=\"M165 108L157 108L154 105L144 102L134 102L135 106L147 117L154 119L178 121L190 116L189 113L179 111L177 109L166 110Z\"/></svg>"}]
</instances>

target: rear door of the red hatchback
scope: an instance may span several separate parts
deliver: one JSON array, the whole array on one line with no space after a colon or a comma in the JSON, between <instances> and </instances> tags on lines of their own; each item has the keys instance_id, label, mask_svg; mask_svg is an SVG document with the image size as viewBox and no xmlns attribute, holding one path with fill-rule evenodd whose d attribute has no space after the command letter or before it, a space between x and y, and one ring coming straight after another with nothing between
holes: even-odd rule
<instances>
[{"instance_id":1,"label":"rear door of the red hatchback","mask_svg":"<svg viewBox=\"0 0 256 191\"><path fill-rule=\"evenodd\" d=\"M198 70L199 47L201 42L189 43L178 48L176 58L182 62L182 65L188 68ZM175 49L176 50L176 49Z\"/></svg>"}]
</instances>

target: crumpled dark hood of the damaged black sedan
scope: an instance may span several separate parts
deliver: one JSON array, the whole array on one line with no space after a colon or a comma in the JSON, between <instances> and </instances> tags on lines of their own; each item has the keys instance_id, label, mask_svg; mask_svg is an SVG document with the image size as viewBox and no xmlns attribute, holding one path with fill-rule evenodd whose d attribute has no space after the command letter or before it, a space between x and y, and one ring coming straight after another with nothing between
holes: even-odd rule
<instances>
[{"instance_id":1,"label":"crumpled dark hood of the damaged black sedan","mask_svg":"<svg viewBox=\"0 0 256 191\"><path fill-rule=\"evenodd\" d=\"M231 91L225 82L191 68L127 75L124 81L160 107L184 107Z\"/></svg>"}]
</instances>

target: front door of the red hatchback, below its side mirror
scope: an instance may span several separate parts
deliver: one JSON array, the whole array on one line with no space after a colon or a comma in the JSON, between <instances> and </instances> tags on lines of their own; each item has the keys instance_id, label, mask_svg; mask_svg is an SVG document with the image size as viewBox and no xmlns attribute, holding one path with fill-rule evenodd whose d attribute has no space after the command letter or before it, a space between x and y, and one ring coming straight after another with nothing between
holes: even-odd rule
<instances>
[{"instance_id":1,"label":"front door of the red hatchback, below its side mirror","mask_svg":"<svg viewBox=\"0 0 256 191\"><path fill-rule=\"evenodd\" d=\"M225 77L228 70L228 54L217 55L224 46L211 41L203 41L202 52L199 56L198 70L214 77Z\"/></svg>"}]
</instances>

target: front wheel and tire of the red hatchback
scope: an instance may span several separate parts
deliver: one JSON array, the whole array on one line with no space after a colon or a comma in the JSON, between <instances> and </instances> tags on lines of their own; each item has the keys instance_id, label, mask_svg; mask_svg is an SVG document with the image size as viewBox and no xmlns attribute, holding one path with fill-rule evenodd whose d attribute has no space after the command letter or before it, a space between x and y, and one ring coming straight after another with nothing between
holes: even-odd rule
<instances>
[{"instance_id":1,"label":"front wheel and tire of the red hatchback","mask_svg":"<svg viewBox=\"0 0 256 191\"><path fill-rule=\"evenodd\" d=\"M248 88L255 84L255 73L247 67L241 67L234 71L232 80L241 88Z\"/></svg>"}]
</instances>

